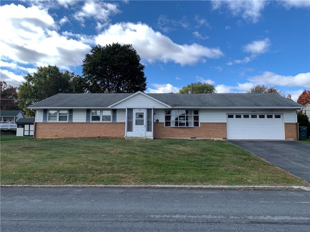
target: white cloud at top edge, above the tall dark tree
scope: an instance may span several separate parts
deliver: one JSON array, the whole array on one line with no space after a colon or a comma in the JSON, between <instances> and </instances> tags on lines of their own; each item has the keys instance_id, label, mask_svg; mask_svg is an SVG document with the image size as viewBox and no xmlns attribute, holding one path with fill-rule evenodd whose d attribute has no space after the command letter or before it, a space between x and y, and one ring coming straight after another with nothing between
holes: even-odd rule
<instances>
[{"instance_id":1,"label":"white cloud at top edge, above the tall dark tree","mask_svg":"<svg viewBox=\"0 0 310 232\"><path fill-rule=\"evenodd\" d=\"M81 25L85 26L85 19L95 19L97 21L97 29L107 26L110 22L110 16L116 15L121 11L116 4L103 1L86 1L81 11L76 12L73 17L78 20Z\"/></svg>"}]
</instances>

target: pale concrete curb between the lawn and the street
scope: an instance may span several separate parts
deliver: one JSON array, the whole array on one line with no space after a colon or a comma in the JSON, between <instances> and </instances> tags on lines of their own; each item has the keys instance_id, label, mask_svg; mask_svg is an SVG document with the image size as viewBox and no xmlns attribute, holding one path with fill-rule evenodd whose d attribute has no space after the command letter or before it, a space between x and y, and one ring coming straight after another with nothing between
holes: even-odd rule
<instances>
[{"instance_id":1,"label":"pale concrete curb between the lawn and the street","mask_svg":"<svg viewBox=\"0 0 310 232\"><path fill-rule=\"evenodd\" d=\"M136 188L136 189L206 189L206 190L286 190L310 191L303 186L245 186L245 185L15 185L2 184L0 187L11 188Z\"/></svg>"}]
</instances>

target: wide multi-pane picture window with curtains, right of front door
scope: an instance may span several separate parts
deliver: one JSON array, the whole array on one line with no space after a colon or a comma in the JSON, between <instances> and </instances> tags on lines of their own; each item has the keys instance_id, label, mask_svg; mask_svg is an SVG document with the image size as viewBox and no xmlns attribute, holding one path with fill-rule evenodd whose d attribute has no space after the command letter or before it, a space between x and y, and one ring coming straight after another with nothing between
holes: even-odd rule
<instances>
[{"instance_id":1,"label":"wide multi-pane picture window with curtains, right of front door","mask_svg":"<svg viewBox=\"0 0 310 232\"><path fill-rule=\"evenodd\" d=\"M199 127L199 110L166 110L165 127Z\"/></svg>"}]
</instances>

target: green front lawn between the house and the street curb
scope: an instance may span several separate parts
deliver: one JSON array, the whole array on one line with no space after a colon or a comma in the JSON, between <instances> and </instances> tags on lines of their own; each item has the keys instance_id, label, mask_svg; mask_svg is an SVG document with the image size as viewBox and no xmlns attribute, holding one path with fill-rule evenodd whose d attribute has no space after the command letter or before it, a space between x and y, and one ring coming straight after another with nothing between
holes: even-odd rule
<instances>
[{"instance_id":1,"label":"green front lawn between the house and the street curb","mask_svg":"<svg viewBox=\"0 0 310 232\"><path fill-rule=\"evenodd\" d=\"M2 184L308 186L226 141L1 138Z\"/></svg>"}]
</instances>

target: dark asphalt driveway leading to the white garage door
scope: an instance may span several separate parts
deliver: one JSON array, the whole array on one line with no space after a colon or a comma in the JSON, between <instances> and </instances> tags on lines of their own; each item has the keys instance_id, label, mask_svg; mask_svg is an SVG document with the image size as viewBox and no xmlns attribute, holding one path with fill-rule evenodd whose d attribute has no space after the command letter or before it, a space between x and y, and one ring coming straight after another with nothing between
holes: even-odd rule
<instances>
[{"instance_id":1,"label":"dark asphalt driveway leading to the white garage door","mask_svg":"<svg viewBox=\"0 0 310 232\"><path fill-rule=\"evenodd\" d=\"M230 142L310 183L310 145L295 141L231 140Z\"/></svg>"}]
</instances>

